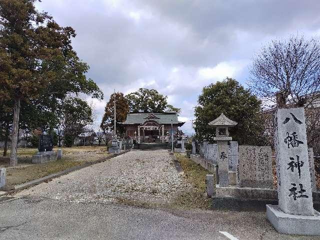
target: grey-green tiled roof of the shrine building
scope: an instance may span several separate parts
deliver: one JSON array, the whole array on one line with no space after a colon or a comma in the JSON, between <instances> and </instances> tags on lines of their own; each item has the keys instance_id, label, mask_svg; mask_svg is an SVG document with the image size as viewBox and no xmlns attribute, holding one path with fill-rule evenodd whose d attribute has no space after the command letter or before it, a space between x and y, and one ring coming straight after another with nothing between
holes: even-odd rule
<instances>
[{"instance_id":1,"label":"grey-green tiled roof of the shrine building","mask_svg":"<svg viewBox=\"0 0 320 240\"><path fill-rule=\"evenodd\" d=\"M160 124L179 124L182 125L183 121L178 121L176 112L138 112L128 113L126 120L122 124L143 124L146 120L155 120Z\"/></svg>"}]
</instances>

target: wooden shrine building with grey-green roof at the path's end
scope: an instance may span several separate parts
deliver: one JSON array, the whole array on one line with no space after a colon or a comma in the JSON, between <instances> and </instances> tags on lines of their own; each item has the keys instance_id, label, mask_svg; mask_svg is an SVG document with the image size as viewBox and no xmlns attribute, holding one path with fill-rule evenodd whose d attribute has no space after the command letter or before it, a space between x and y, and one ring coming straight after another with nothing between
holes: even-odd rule
<instances>
[{"instance_id":1,"label":"wooden shrine building with grey-green roof at the path's end","mask_svg":"<svg viewBox=\"0 0 320 240\"><path fill-rule=\"evenodd\" d=\"M184 122L178 121L176 112L130 112L122 122L126 136L136 139L137 143L165 143Z\"/></svg>"}]
</instances>

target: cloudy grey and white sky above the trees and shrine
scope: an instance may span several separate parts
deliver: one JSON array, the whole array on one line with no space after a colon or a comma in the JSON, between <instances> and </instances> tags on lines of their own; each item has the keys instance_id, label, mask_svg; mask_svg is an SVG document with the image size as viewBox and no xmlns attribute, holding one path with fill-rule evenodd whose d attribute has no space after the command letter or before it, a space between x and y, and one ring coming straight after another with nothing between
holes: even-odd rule
<instances>
[{"instance_id":1,"label":"cloudy grey and white sky above the trees and shrine","mask_svg":"<svg viewBox=\"0 0 320 240\"><path fill-rule=\"evenodd\" d=\"M245 87L261 45L290 34L318 36L319 0L42 0L77 36L72 44L100 86L96 124L115 88L155 88L182 109L191 133L201 88L226 76ZM91 99L88 99L91 102Z\"/></svg>"}]
</instances>

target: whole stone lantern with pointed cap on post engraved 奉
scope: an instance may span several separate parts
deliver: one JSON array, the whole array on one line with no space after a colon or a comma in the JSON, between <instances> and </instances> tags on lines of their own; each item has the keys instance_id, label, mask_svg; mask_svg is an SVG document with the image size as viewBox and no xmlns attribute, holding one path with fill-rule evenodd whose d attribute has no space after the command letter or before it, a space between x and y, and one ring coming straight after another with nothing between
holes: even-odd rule
<instances>
[{"instance_id":1,"label":"whole stone lantern with pointed cap on post engraved \u5949","mask_svg":"<svg viewBox=\"0 0 320 240\"><path fill-rule=\"evenodd\" d=\"M236 124L237 122L227 118L223 113L218 118L209 122L209 125L216 129L213 140L217 142L219 186L229 185L228 141L232 140L232 137L229 136L228 128Z\"/></svg>"}]
</instances>

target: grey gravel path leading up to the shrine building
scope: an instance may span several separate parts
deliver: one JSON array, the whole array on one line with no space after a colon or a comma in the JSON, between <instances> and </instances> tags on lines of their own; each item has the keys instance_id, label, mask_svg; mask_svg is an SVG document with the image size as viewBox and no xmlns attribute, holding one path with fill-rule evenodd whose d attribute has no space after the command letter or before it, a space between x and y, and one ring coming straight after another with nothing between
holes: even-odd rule
<instances>
[{"instance_id":1,"label":"grey gravel path leading up to the shrine building","mask_svg":"<svg viewBox=\"0 0 320 240\"><path fill-rule=\"evenodd\" d=\"M168 205L190 187L177 173L167 150L131 150L17 195L43 196L69 202Z\"/></svg>"}]
</instances>

